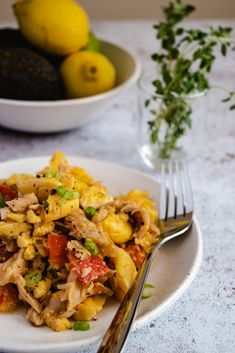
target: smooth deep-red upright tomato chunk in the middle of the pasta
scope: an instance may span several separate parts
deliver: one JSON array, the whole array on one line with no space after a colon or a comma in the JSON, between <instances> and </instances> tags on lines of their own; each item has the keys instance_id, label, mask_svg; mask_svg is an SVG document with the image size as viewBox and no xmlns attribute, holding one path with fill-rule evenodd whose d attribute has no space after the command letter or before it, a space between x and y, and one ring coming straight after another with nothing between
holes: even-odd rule
<instances>
[{"instance_id":1,"label":"smooth deep-red upright tomato chunk in the middle of the pasta","mask_svg":"<svg viewBox=\"0 0 235 353\"><path fill-rule=\"evenodd\" d=\"M48 235L49 258L53 264L62 266L68 261L66 254L67 243L66 235Z\"/></svg>"}]
</instances>

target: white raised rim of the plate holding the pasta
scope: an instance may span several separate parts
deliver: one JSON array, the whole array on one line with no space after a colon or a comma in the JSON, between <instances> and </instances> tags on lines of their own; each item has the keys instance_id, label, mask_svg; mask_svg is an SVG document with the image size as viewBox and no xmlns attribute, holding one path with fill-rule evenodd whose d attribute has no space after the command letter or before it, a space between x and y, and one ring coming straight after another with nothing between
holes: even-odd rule
<instances>
[{"instance_id":1,"label":"white raised rim of the plate holding the pasta","mask_svg":"<svg viewBox=\"0 0 235 353\"><path fill-rule=\"evenodd\" d=\"M103 165L109 165L109 166L113 166L113 167L121 167L122 169L124 169L127 172L134 172L136 174L141 175L142 177L147 177L148 179L151 179L152 181L154 181L157 184L160 184L160 182L152 175L147 174L145 172L142 172L138 169L135 168L130 168L127 167L125 165L119 164L119 163L114 163L114 162L110 162L107 160L100 160L100 159L96 159L96 158L89 158L89 157L78 157L75 155L66 155L66 157L68 158L68 160L70 159L74 159L74 160L80 160L82 163L83 161L86 162L95 162L95 163L100 163ZM0 162L0 169L2 167L4 167L4 165L8 165L11 163L21 163L21 162L27 162L27 160L42 160L44 159L45 161L49 160L51 158L51 156L48 155L42 155L42 156L36 156L36 157L26 157L26 158L16 158L16 159L10 159L7 161L2 161ZM155 309L151 310L150 312L144 314L142 317L137 318L132 326L132 331L136 331L140 328L142 328L143 326L145 326L146 324L148 324L149 322L151 322L152 320L156 319L157 317L159 317L163 312L167 311L172 305L174 305L176 303L176 301L178 299L180 299L182 297L182 295L187 291L187 289L190 287L190 285L192 284L193 280L195 279L201 262L202 262L202 257L203 257L203 237L202 237L202 232L199 226L199 223L196 219L196 217L193 217L193 224L195 226L196 229L196 238L197 238L197 250L196 250L196 254L195 254L195 262L193 263L191 269L190 269L190 274L184 279L184 281L182 282L182 284L180 285L180 287L178 289L176 289L167 299L164 300L163 303L161 303L160 305L156 306ZM7 352L7 353L32 353L32 352L37 352L37 353L43 353L43 352L52 352L56 349L57 353L63 353L65 352L66 349L70 350L70 351L76 351L79 352L81 349L85 349L88 348L90 346L94 346L97 342L99 342L102 339L102 336L96 335L93 337L89 337L89 338L84 338L83 342L80 343L78 346L78 342L79 341L70 341L70 342L60 342L60 343L46 343L41 347L38 347L35 349L35 344L27 344L27 343L21 343L18 344L17 346L14 345L14 343L10 343L4 346L1 346L0 343L0 351L3 352Z\"/></svg>"}]
</instances>

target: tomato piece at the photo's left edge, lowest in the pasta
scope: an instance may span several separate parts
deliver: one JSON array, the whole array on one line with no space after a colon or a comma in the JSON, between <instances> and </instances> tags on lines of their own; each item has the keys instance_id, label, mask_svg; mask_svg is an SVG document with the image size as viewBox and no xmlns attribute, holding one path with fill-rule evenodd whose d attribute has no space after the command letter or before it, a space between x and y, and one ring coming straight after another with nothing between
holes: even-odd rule
<instances>
[{"instance_id":1,"label":"tomato piece at the photo's left edge, lowest in the pasta","mask_svg":"<svg viewBox=\"0 0 235 353\"><path fill-rule=\"evenodd\" d=\"M0 287L0 312L13 311L18 303L18 291L13 284L6 284Z\"/></svg>"}]
</instances>

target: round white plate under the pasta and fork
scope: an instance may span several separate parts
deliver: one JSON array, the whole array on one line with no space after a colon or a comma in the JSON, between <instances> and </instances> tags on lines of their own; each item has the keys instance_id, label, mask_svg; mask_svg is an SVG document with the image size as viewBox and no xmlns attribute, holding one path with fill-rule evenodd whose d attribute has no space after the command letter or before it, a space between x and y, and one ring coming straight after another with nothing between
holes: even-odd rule
<instances>
[{"instance_id":1,"label":"round white plate under the pasta and fork","mask_svg":"<svg viewBox=\"0 0 235 353\"><path fill-rule=\"evenodd\" d=\"M35 173L47 165L49 158L20 159L0 164L0 178L11 173ZM71 157L73 165L82 166L92 176L102 180L112 194L139 188L149 191L159 200L159 183L135 170L98 160ZM134 324L137 329L162 314L179 299L195 278L202 258L202 235L194 219L187 235L172 240L160 250L152 265L148 282L155 285L153 296L142 300ZM97 342L117 309L114 301L105 306L97 321L86 332L56 333L48 327L35 328L25 320L22 311L0 315L1 352L78 352Z\"/></svg>"}]
</instances>

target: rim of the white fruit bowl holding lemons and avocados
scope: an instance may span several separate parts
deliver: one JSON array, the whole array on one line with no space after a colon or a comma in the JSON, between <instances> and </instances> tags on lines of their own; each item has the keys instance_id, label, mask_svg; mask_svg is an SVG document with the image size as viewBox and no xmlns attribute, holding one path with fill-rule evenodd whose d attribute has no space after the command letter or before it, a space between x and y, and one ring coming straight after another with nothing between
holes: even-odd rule
<instances>
[{"instance_id":1,"label":"rim of the white fruit bowl holding lemons and avocados","mask_svg":"<svg viewBox=\"0 0 235 353\"><path fill-rule=\"evenodd\" d=\"M10 27L10 28L18 28L17 25L14 22L5 22L5 21L1 21L0 22L0 29L4 28L4 27ZM133 68L133 72L131 73L130 77L122 82L121 84L119 84L118 86L115 86L114 88L110 89L107 92L104 93L99 93L99 94L95 94L93 96L89 96L89 97L84 97L84 98L72 98L72 99L58 99L58 100L42 100L42 101L37 101L37 100L20 100L20 99L10 99L10 98L1 98L0 97L0 104L1 105L9 105L9 106L25 106L25 107L55 107L55 106L64 106L64 105L68 105L68 106L74 106L77 104L87 104L87 103L91 103L91 102L97 102L99 100L102 100L104 98L107 98L109 96L113 96L116 93L118 93L118 91L120 91L123 87L127 87L129 85L131 85L132 83L135 83L138 81L140 75L141 75L141 63L139 58L137 58L137 56L129 50L126 50L125 48L123 48L122 46L114 43L114 42L110 42L108 40L99 38L100 41L104 44L108 44L111 45L113 47L116 47L118 49L121 49L125 54L127 54L134 63L134 68Z\"/></svg>"}]
</instances>

